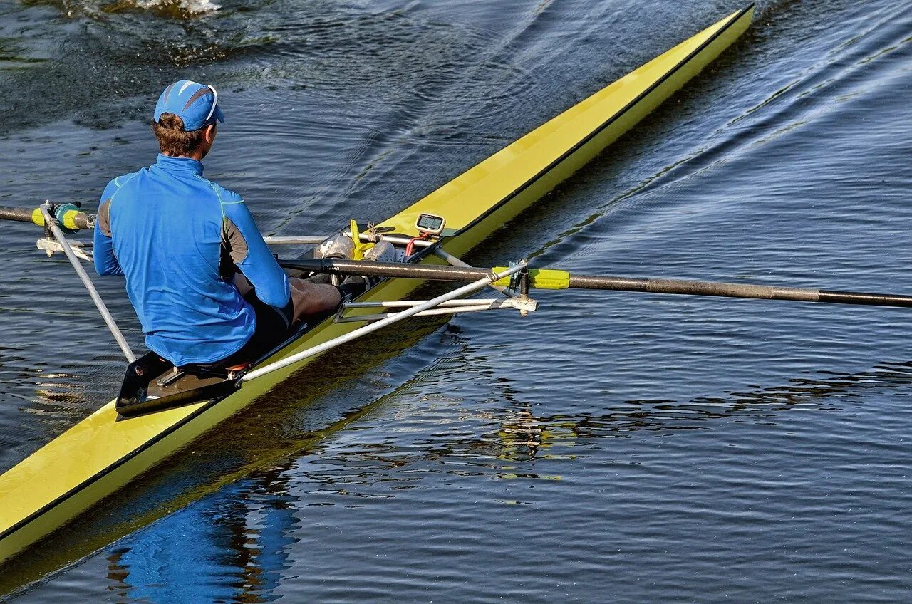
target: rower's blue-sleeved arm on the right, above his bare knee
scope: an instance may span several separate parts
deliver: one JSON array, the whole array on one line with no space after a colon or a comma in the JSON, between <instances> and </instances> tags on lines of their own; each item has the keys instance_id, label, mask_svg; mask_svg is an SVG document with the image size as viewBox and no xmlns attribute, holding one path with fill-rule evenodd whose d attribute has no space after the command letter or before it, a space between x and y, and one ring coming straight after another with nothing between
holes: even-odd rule
<instances>
[{"instance_id":1,"label":"rower's blue-sleeved arm on the right, above his bare knee","mask_svg":"<svg viewBox=\"0 0 912 604\"><path fill-rule=\"evenodd\" d=\"M222 208L222 239L233 263L254 285L256 297L275 307L290 325L294 308L288 276L266 247L254 217L240 197L223 200Z\"/></svg>"}]
</instances>

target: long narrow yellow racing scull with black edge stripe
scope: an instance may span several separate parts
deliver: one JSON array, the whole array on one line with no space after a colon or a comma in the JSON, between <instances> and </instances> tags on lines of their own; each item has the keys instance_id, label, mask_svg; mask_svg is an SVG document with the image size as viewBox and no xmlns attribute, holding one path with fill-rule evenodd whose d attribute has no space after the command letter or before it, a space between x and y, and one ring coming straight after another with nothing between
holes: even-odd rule
<instances>
[{"instance_id":1,"label":"long narrow yellow racing scull with black edge stripe","mask_svg":"<svg viewBox=\"0 0 912 604\"><path fill-rule=\"evenodd\" d=\"M371 237L374 240L385 238L404 244L423 235L412 242L420 244L420 249L407 256L410 263L416 266L441 266L448 262L460 265L458 256L554 189L698 74L741 36L752 16L752 5L726 16L566 109L378 224L363 237L354 233L357 227L353 224L350 227L353 236L368 241ZM22 218L15 211L6 212L7 215L3 215L4 210L0 209L0 218ZM47 215L29 213L27 219L45 224ZM71 228L85 228L91 223L88 214L72 208L58 217L62 223L68 221L67 226ZM440 218L439 223L435 223L437 218ZM421 221L425 223L422 225ZM435 233L436 237L428 236L434 231L439 231ZM522 267L513 267L495 277L509 277L521 270ZM327 342L339 342L346 334L362 329L357 325L358 315L366 315L371 305L389 306L403 300L421 283L420 278L380 281L349 306L355 321L326 318L302 329L268 358L239 375L232 375L230 389L217 390L225 382L223 376L185 375L176 370L162 372L161 376L155 376L158 381L150 387L148 401L177 401L174 397L186 391L197 392L195 399L188 397L158 408L153 404L141 412L130 413L119 412L124 410L119 409L116 401L111 401L78 422L0 475L0 562L65 525L275 388L314 359L322 350L319 347ZM465 290L461 294L471 293L486 284L476 285L473 289L461 288ZM406 312L420 314L433 312L435 308L447 312L448 305L459 304L458 297L437 298L431 301L433 304L428 303L430 306L414 304ZM526 309L522 302L514 307L523 312ZM382 327L387 320L379 318L370 325ZM169 378L170 375L173 378ZM203 394L208 392L211 397L203 400L200 389L207 386L217 388L203 390Z\"/></svg>"}]
</instances>

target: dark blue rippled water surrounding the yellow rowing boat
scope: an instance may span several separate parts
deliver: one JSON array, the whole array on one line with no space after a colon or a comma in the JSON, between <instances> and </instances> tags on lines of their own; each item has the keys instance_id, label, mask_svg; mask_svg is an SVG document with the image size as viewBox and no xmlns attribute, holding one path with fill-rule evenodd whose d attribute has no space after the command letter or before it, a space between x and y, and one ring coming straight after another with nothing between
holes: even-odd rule
<instances>
[{"instance_id":1,"label":"dark blue rippled water surrounding the yellow rowing boat","mask_svg":"<svg viewBox=\"0 0 912 604\"><path fill-rule=\"evenodd\" d=\"M95 203L153 161L151 105L186 77L228 118L207 175L265 233L381 219L738 7L0 0L0 205ZM469 259L912 293L910 41L906 0L762 2ZM38 234L0 231L0 469L122 370ZM539 299L330 356L47 546L40 572L88 557L14 599L912 599L908 311Z\"/></svg>"}]
</instances>

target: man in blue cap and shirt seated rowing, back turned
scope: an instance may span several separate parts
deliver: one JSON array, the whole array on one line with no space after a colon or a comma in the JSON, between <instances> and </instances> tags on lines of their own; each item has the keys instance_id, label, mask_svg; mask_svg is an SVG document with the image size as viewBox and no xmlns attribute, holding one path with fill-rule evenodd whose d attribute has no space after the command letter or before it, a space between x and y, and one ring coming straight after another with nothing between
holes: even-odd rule
<instances>
[{"instance_id":1,"label":"man in blue cap and shirt seated rowing, back turned","mask_svg":"<svg viewBox=\"0 0 912 604\"><path fill-rule=\"evenodd\" d=\"M161 93L158 160L109 182L95 226L96 271L126 277L146 345L175 367L254 360L341 300L336 286L286 276L241 196L202 177L224 122L217 102L190 80Z\"/></svg>"}]
</instances>

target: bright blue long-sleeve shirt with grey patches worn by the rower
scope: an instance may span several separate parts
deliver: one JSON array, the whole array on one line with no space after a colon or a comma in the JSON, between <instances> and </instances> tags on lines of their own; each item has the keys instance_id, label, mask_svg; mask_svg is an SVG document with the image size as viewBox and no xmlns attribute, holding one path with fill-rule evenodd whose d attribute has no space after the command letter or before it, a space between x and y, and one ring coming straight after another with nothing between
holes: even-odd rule
<instances>
[{"instance_id":1,"label":"bright blue long-sleeve shirt with grey patches worn by the rower","mask_svg":"<svg viewBox=\"0 0 912 604\"><path fill-rule=\"evenodd\" d=\"M202 163L159 155L109 182L95 225L95 269L124 275L146 346L180 367L241 349L255 314L233 285L235 266L256 296L291 320L285 271L237 193L202 178Z\"/></svg>"}]
</instances>

